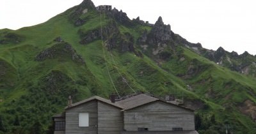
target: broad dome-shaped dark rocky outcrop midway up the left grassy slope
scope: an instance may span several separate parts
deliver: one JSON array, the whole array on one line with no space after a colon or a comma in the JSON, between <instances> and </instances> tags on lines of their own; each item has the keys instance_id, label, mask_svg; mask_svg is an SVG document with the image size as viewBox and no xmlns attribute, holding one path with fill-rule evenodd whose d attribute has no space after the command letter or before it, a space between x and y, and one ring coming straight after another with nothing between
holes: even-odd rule
<instances>
[{"instance_id":1,"label":"broad dome-shaped dark rocky outcrop midway up the left grassy slope","mask_svg":"<svg viewBox=\"0 0 256 134\"><path fill-rule=\"evenodd\" d=\"M85 63L84 59L76 53L76 50L66 42L57 43L51 48L43 50L36 56L36 61L45 61L46 59L60 59L60 61L65 61L68 59L66 57L70 57L76 63Z\"/></svg>"}]
</instances>

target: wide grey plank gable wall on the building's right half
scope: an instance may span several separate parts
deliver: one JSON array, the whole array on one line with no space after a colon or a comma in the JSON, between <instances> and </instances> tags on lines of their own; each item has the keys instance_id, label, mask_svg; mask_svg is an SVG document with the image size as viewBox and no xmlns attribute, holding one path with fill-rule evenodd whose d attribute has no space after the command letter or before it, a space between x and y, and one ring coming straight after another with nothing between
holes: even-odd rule
<instances>
[{"instance_id":1,"label":"wide grey plank gable wall on the building's right half","mask_svg":"<svg viewBox=\"0 0 256 134\"><path fill-rule=\"evenodd\" d=\"M172 128L195 130L194 113L184 108L156 101L124 112L127 131L172 131Z\"/></svg>"}]
</instances>

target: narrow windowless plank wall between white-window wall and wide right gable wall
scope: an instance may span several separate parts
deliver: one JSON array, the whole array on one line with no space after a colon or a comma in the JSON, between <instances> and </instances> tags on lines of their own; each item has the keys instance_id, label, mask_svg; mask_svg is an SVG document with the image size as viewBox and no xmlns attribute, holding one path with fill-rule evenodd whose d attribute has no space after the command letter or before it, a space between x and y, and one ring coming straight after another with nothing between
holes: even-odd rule
<instances>
[{"instance_id":1,"label":"narrow windowless plank wall between white-window wall and wide right gable wall","mask_svg":"<svg viewBox=\"0 0 256 134\"><path fill-rule=\"evenodd\" d=\"M98 133L120 134L123 130L123 115L120 108L98 101Z\"/></svg>"}]
</instances>

